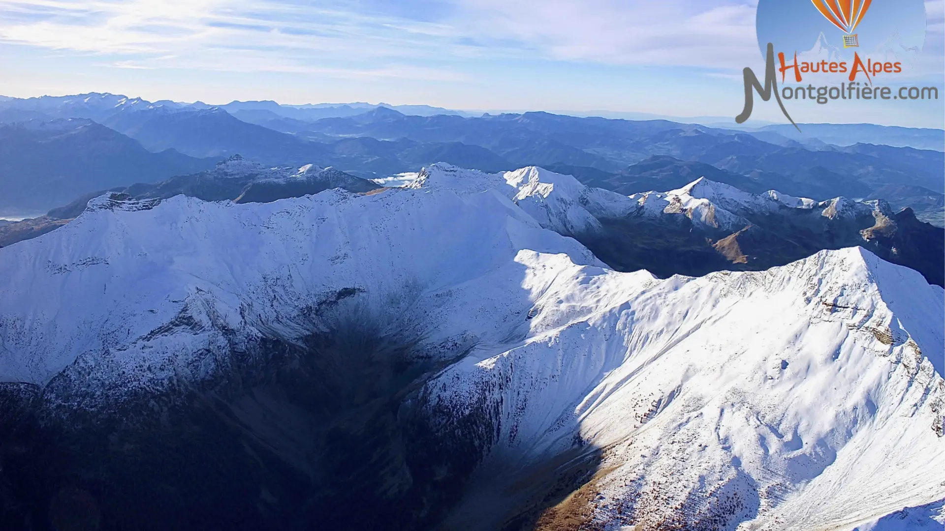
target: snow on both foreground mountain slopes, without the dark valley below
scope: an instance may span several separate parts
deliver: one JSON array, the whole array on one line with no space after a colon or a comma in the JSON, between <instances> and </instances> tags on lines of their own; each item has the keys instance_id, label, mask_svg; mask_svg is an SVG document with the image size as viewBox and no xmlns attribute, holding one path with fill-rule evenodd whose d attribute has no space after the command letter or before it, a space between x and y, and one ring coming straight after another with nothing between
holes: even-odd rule
<instances>
[{"instance_id":1,"label":"snow on both foreground mountain slopes, without the dark valley below","mask_svg":"<svg viewBox=\"0 0 945 531\"><path fill-rule=\"evenodd\" d=\"M585 508L609 529L843 530L945 498L941 288L860 248L658 280L558 233L639 204L443 164L370 196L98 197L0 248L0 381L94 410L351 299L424 355L468 351L411 400L442 437L489 424L489 481L602 452Z\"/></svg>"}]
</instances>

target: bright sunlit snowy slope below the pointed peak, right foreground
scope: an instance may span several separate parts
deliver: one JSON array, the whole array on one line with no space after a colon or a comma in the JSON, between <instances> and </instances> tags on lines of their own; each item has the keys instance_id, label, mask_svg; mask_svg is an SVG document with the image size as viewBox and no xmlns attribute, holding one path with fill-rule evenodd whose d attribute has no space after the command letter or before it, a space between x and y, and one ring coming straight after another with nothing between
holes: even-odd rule
<instances>
[{"instance_id":1,"label":"bright sunlit snowy slope below the pointed peak, right foreground","mask_svg":"<svg viewBox=\"0 0 945 531\"><path fill-rule=\"evenodd\" d=\"M558 264L529 340L473 352L435 403L497 409L493 452L523 462L579 426L605 450L600 522L849 529L945 497L940 288L857 248L635 275Z\"/></svg>"}]
</instances>

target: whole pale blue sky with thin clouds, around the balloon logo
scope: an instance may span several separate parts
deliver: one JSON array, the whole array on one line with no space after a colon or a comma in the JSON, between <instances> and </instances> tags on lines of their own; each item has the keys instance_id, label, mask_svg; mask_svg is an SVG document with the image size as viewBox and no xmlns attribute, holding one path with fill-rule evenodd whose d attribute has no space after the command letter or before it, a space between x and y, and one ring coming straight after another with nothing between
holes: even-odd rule
<instances>
[{"instance_id":1,"label":"whole pale blue sky with thin clouds, around the balloon logo","mask_svg":"<svg viewBox=\"0 0 945 531\"><path fill-rule=\"evenodd\" d=\"M918 77L939 86L943 3L925 2L925 48L938 66ZM734 116L742 68L764 66L756 9L757 0L0 0L0 94ZM942 127L943 101L790 111L799 121ZM769 103L752 118L782 121Z\"/></svg>"}]
</instances>

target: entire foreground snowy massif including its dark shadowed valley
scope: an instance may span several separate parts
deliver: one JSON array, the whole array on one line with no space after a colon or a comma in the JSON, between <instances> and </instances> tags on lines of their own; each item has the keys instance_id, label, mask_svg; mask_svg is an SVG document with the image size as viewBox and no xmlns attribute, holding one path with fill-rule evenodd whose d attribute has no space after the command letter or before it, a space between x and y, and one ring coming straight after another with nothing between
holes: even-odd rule
<instances>
[{"instance_id":1,"label":"entire foreground snowy massif including its dark shadowed valley","mask_svg":"<svg viewBox=\"0 0 945 531\"><path fill-rule=\"evenodd\" d=\"M0 249L0 516L940 519L942 288L862 248L660 280L561 235L642 208L538 168L446 165L370 195L97 197Z\"/></svg>"}]
</instances>

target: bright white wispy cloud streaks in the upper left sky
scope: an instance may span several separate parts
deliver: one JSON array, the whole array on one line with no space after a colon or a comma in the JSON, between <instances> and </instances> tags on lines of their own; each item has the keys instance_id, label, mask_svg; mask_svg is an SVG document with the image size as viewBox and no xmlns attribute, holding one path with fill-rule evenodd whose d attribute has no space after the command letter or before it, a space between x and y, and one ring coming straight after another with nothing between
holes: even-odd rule
<instances>
[{"instance_id":1,"label":"bright white wispy cloud streaks in the upper left sky","mask_svg":"<svg viewBox=\"0 0 945 531\"><path fill-rule=\"evenodd\" d=\"M340 77L456 79L433 64L442 26L283 2L0 1L0 41L109 56L122 68L316 72ZM447 54L463 55L463 44Z\"/></svg>"}]
</instances>

